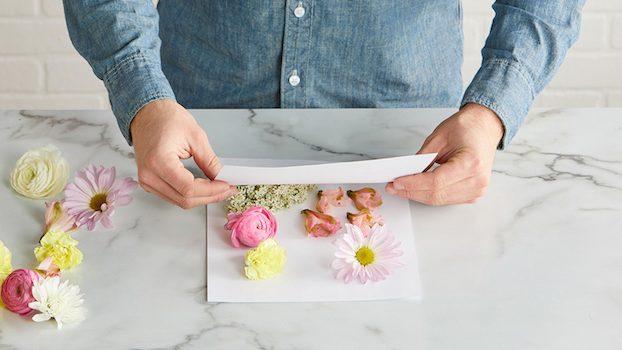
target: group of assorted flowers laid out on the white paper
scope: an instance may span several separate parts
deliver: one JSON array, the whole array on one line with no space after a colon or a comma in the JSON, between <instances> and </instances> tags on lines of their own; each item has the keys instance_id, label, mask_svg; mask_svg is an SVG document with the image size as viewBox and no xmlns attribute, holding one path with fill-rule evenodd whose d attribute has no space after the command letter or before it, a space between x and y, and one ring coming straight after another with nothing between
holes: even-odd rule
<instances>
[{"instance_id":1,"label":"group of assorted flowers laid out on the white paper","mask_svg":"<svg viewBox=\"0 0 622 350\"><path fill-rule=\"evenodd\" d=\"M283 210L304 202L312 185L238 186L239 193L227 206L225 229L231 231L231 245L250 248L244 256L244 276L250 280L273 278L284 269L285 249L276 241L277 220L271 210ZM331 213L333 208L354 205L356 212L346 214L347 223ZM327 268L345 283L366 284L386 279L402 266L400 242L388 232L378 213L382 196L365 187L345 191L342 187L317 193L314 209L304 209L304 229L309 237L333 237L335 259Z\"/></svg>"}]
</instances>

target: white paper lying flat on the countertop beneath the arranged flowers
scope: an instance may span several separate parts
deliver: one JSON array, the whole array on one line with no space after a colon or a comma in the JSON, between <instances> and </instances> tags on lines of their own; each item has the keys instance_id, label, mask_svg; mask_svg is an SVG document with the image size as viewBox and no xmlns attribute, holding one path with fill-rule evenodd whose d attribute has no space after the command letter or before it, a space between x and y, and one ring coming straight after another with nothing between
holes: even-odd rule
<instances>
[{"instance_id":1,"label":"white paper lying flat on the countertop beneath the arranged flowers","mask_svg":"<svg viewBox=\"0 0 622 350\"><path fill-rule=\"evenodd\" d=\"M223 162L245 164L243 160ZM257 163L256 160L248 163ZM261 160L264 165L282 165L283 161ZM336 188L322 185L319 189ZM224 229L226 209L223 203L209 205L207 210L207 299L208 302L323 302L365 301L383 299L420 299L422 295L415 250L414 228L407 200L391 196L384 184L341 185L356 190L374 187L383 196L378 209L389 231L402 243L402 262L385 281L361 285L344 284L334 278L330 267L335 246L334 237L307 237L304 216L300 211L314 208L316 196L311 193L306 203L276 213L279 223L277 240L287 250L288 261L280 276L264 281L250 281L244 277L244 254L247 249L233 248L230 232ZM342 223L346 212L356 212L354 206L334 208L332 214ZM341 233L337 232L335 235Z\"/></svg>"}]
</instances>

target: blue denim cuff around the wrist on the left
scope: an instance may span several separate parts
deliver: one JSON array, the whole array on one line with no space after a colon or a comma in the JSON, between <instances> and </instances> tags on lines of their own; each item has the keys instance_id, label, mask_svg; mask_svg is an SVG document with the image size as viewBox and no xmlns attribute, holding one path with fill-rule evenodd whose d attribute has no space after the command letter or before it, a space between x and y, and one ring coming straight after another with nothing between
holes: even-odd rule
<instances>
[{"instance_id":1,"label":"blue denim cuff around the wrist on the left","mask_svg":"<svg viewBox=\"0 0 622 350\"><path fill-rule=\"evenodd\" d=\"M103 80L119 129L130 145L130 124L136 113L151 101L175 100L160 61L140 53L119 62L104 75Z\"/></svg>"}]
</instances>

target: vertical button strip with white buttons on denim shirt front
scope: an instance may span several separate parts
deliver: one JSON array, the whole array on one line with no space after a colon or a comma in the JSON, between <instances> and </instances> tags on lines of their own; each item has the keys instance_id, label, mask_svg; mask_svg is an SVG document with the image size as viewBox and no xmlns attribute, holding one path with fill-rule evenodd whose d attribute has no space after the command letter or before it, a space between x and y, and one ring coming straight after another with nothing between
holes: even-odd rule
<instances>
[{"instance_id":1,"label":"vertical button strip with white buttons on denim shirt front","mask_svg":"<svg viewBox=\"0 0 622 350\"><path fill-rule=\"evenodd\" d=\"M305 108L309 86L312 0L288 0L281 60L281 108Z\"/></svg>"}]
</instances>

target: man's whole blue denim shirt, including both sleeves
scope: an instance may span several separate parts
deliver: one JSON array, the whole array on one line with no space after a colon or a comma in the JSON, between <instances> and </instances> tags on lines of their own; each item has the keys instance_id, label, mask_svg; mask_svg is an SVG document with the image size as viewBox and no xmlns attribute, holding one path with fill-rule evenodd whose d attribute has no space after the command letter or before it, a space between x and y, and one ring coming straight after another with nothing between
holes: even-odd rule
<instances>
[{"instance_id":1,"label":"man's whole blue denim shirt, including both sleeves","mask_svg":"<svg viewBox=\"0 0 622 350\"><path fill-rule=\"evenodd\" d=\"M576 40L583 0L499 0L463 93L459 0L65 0L71 40L121 132L146 103L186 108L484 105L508 144Z\"/></svg>"}]
</instances>

